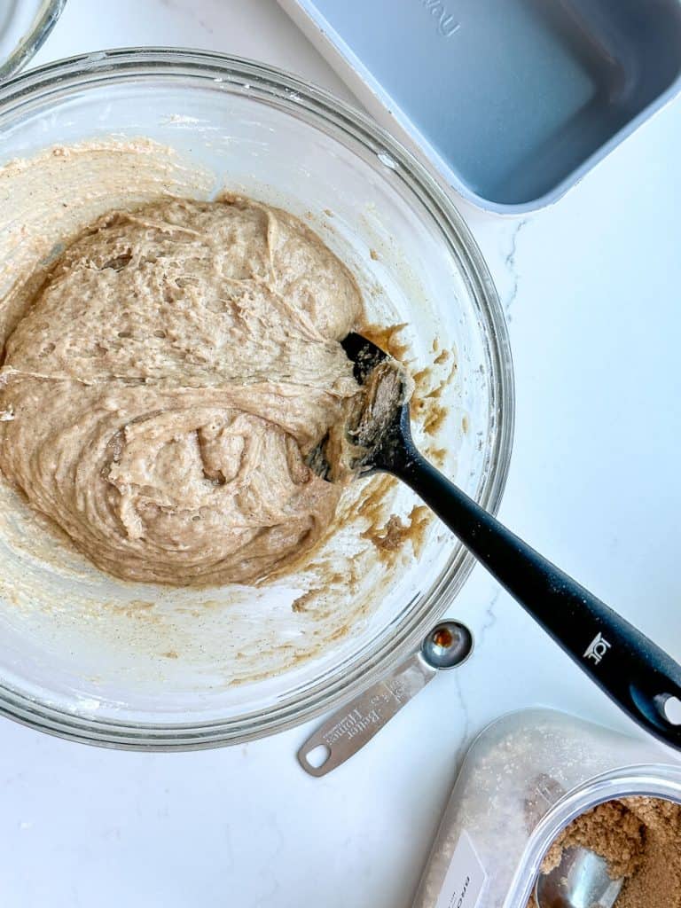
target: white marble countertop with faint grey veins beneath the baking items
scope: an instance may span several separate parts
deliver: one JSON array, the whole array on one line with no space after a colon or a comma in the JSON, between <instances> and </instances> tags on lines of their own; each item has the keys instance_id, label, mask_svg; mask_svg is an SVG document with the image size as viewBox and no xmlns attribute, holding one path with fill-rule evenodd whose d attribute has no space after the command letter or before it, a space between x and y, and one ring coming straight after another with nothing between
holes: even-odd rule
<instances>
[{"instance_id":1,"label":"white marble countertop with faint grey veins beneath the baking items","mask_svg":"<svg viewBox=\"0 0 681 908\"><path fill-rule=\"evenodd\" d=\"M36 62L133 44L281 65L349 96L274 0L69 0ZM460 208L510 320L517 433L501 516L681 657L681 99L554 208ZM409 908L471 735L523 706L637 734L476 568L452 614L478 637L323 780L312 726L179 755L0 722L0 900L15 908Z\"/></svg>"}]
</instances>

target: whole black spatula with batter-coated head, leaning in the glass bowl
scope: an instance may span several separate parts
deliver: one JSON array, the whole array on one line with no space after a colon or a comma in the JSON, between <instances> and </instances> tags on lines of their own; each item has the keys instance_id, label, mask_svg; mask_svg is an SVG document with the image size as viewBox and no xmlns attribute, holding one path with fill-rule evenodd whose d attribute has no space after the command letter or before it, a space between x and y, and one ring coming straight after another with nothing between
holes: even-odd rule
<instances>
[{"instance_id":1,"label":"whole black spatula with batter-coated head, leaning in the glass bowl","mask_svg":"<svg viewBox=\"0 0 681 908\"><path fill-rule=\"evenodd\" d=\"M399 364L360 334L342 343L367 389L349 427L358 475L382 471L406 482L617 706L681 749L681 666L423 458L411 439Z\"/></svg>"}]
</instances>

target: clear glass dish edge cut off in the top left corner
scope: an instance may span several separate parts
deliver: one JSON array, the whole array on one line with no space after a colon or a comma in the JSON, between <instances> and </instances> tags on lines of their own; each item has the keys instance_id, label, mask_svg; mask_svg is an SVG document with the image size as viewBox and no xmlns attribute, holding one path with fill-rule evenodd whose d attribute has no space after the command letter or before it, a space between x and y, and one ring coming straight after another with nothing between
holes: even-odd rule
<instances>
[{"instance_id":1,"label":"clear glass dish edge cut off in the top left corner","mask_svg":"<svg viewBox=\"0 0 681 908\"><path fill-rule=\"evenodd\" d=\"M4 0L0 5L0 82L34 56L65 5L66 0Z\"/></svg>"}]
</instances>

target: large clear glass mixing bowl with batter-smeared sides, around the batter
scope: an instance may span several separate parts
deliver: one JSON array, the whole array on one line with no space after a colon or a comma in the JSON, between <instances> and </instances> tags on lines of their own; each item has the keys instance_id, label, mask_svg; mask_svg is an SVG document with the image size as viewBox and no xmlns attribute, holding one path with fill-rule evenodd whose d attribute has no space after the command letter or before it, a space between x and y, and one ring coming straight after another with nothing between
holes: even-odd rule
<instances>
[{"instance_id":1,"label":"large clear glass mixing bowl with batter-smeared sides, around the batter","mask_svg":"<svg viewBox=\"0 0 681 908\"><path fill-rule=\"evenodd\" d=\"M496 507L512 428L498 298L449 200L368 119L270 67L145 50L25 74L0 89L0 125L0 367L5 353L7 366L14 360L8 344L90 225L228 190L291 212L347 265L366 322L385 329L368 336L410 369L419 445ZM123 270L102 273L115 280ZM110 332L111 349L133 347L117 336L129 328ZM103 329L89 331L100 338ZM55 352L34 371L46 374ZM21 417L6 380L5 440ZM56 430L52 383L39 420ZM152 384L147 394L160 394ZM187 387L197 384L208 393L205 380ZM135 385L119 380L114 390ZM130 410L123 425L141 426ZM307 442L295 440L304 459ZM52 456L48 445L42 452ZM203 459L192 475L210 479ZM263 582L131 582L96 567L0 468L0 711L79 740L183 748L244 741L330 709L406 656L468 573L435 522L421 528L418 505L386 477L350 482L319 541L298 562L273 564Z\"/></svg>"}]
</instances>

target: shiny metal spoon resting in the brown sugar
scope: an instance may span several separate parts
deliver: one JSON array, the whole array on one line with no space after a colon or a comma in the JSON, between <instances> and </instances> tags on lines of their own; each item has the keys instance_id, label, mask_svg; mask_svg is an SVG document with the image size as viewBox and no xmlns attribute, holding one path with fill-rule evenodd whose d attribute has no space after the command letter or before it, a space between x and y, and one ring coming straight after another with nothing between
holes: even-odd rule
<instances>
[{"instance_id":1,"label":"shiny metal spoon resting in the brown sugar","mask_svg":"<svg viewBox=\"0 0 681 908\"><path fill-rule=\"evenodd\" d=\"M566 848L558 867L540 873L538 908L613 908L624 879L613 880L607 861L589 848Z\"/></svg>"}]
</instances>

